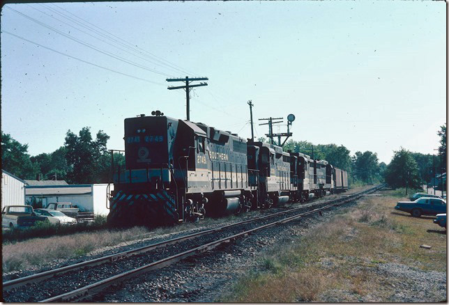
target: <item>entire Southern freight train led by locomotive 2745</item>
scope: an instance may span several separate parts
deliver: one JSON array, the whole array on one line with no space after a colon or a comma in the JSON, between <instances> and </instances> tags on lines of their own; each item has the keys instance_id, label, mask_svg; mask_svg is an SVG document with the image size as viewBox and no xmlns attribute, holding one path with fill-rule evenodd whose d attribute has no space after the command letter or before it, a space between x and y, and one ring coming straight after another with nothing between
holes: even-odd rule
<instances>
[{"instance_id":1,"label":"entire Southern freight train led by locomotive 2745","mask_svg":"<svg viewBox=\"0 0 449 305\"><path fill-rule=\"evenodd\" d=\"M107 217L113 226L172 224L347 189L346 172L324 160L202 123L126 118L123 139L125 171L114 173Z\"/></svg>"}]
</instances>

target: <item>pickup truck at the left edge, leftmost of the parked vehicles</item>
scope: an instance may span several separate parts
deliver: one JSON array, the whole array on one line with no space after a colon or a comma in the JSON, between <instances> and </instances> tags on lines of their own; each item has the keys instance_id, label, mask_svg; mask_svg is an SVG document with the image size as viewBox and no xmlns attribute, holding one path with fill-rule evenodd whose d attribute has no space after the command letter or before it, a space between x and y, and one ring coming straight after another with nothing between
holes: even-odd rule
<instances>
[{"instance_id":1,"label":"pickup truck at the left edge, leftmost of the parked vehicles","mask_svg":"<svg viewBox=\"0 0 449 305\"><path fill-rule=\"evenodd\" d=\"M48 221L47 217L36 215L31 205L7 205L1 211L2 228L29 228L38 221Z\"/></svg>"}]
</instances>

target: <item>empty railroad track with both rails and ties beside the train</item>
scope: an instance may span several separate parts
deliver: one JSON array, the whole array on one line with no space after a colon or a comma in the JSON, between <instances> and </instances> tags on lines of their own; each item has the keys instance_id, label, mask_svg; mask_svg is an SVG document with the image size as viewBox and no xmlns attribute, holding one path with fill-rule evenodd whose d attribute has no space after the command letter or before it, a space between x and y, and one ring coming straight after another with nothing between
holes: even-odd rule
<instances>
[{"instance_id":1,"label":"empty railroad track with both rails and ties beside the train","mask_svg":"<svg viewBox=\"0 0 449 305\"><path fill-rule=\"evenodd\" d=\"M94 281L93 283L87 284L86 286L82 286L80 288L77 288L72 291L64 292L62 294L55 295L54 292L49 292L50 295L41 296L40 299L20 299L18 302L73 302L73 301L81 301L83 299L89 298L93 295L96 295L98 292L104 290L105 288L112 286L116 283L119 283L121 281L124 281L125 279L130 279L131 277L137 276L139 274L142 274L143 272L149 272L153 269L159 269L162 267L165 267L167 265L171 265L173 263L176 263L180 260L183 260L184 258L188 258L189 256L197 255L198 253L203 253L206 251L210 251L211 249L214 249L215 247L218 247L222 244L231 242L232 240L236 240L240 237L250 235L257 230L263 230L264 228L268 228L271 226L276 226L278 224L283 224L288 221L292 221L295 219L299 219L301 217L305 217L309 214L314 214L316 212L321 212L322 210L326 210L328 208L335 207L337 205L342 205L344 203L348 203L350 201L354 201L360 196L363 196L363 194L367 194L373 191L376 191L383 185L379 185L377 187L374 187L372 189L367 189L365 191L361 191L356 194L352 194L349 196L346 196L344 198L337 198L331 201L321 202L321 203L315 203L308 206L301 206L300 208L294 208L290 210L285 210L282 212L276 212L273 214L268 214L266 216L262 217L255 217L252 219L247 219L245 221L239 221L234 224L228 224L226 226L221 226L219 228L213 228L209 230L202 230L197 233L193 233L190 235L185 235L181 237L176 237L171 240L166 240L163 242L158 242L156 244L150 244L144 247L139 247L137 249L132 249L129 251L121 252L121 253L115 253L109 256L104 256L101 258L96 258L93 260L88 260L82 263L77 263L75 265L69 265L66 267L61 267L58 269L49 270L46 272L40 272L38 274L32 274L31 276L25 276L20 279L14 279L11 281L3 282L3 297L5 297L8 302L17 302L17 299L15 299L14 295L20 290L17 290L17 288L20 288L20 286L24 286L26 284L30 284L30 286L34 286L37 288L36 283L47 280L47 281L64 281L63 274L70 274L70 276L75 278L79 277L79 274L82 274L82 272L96 272L98 269L103 269L102 276L98 277L95 274L92 276L86 276L89 277L89 280ZM305 211L304 211L305 210ZM293 214L289 216L290 214ZM280 218L277 220L271 220L268 221L268 219L273 218ZM265 224L259 224L259 222L266 222ZM257 224L257 225L256 225ZM244 228L241 227L245 226L252 226L252 228ZM225 232L227 232L227 235ZM234 230L234 231L233 231ZM210 237L204 241L199 240L198 237L203 237L206 235L210 235ZM226 235L226 236L225 236ZM199 240L199 244L195 242L191 242L193 240ZM174 246L176 249L173 249L173 252L178 251L178 253L170 255L170 249L169 247ZM181 246L180 246L181 245ZM158 251L158 253L155 253L155 251ZM168 250L167 250L168 249ZM151 263L146 263L145 265L141 265L140 258L143 258L142 260L146 260L147 258L144 257L138 257L142 255L149 256L148 254L151 253ZM132 258L139 258L132 259ZM154 259L156 258L156 259ZM125 267L117 267L117 264L119 262L124 262ZM95 268L93 268L95 267ZM114 274L110 276L112 273L109 269L126 269L125 272L118 272L117 274ZM76 272L78 271L78 272ZM109 276L107 276L109 274ZM95 281L98 279L97 281ZM46 284L47 281L45 281ZM70 283L72 283L70 285ZM82 284L77 284L77 286L83 285L86 283L86 279L82 280ZM73 285L73 282L70 282L68 280L68 284L72 287L76 287L76 285ZM30 287L31 288L31 287ZM33 288L31 288L33 289ZM61 291L59 291L61 292ZM34 294L33 294L34 295Z\"/></svg>"}]
</instances>

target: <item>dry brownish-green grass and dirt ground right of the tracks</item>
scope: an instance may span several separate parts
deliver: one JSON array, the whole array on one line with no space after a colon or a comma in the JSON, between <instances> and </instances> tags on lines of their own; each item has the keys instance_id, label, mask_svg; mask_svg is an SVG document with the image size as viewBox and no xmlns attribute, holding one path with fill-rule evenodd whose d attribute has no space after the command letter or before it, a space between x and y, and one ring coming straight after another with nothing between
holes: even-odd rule
<instances>
[{"instance_id":1,"label":"dry brownish-green grass and dirt ground right of the tracks","mask_svg":"<svg viewBox=\"0 0 449 305\"><path fill-rule=\"evenodd\" d=\"M390 278L385 269L446 273L446 230L433 217L394 210L405 189L378 193L383 196L366 196L298 237L284 237L221 301L406 302L397 294L408 279ZM443 292L425 292L426 302L446 299L446 276L444 282Z\"/></svg>"}]
</instances>

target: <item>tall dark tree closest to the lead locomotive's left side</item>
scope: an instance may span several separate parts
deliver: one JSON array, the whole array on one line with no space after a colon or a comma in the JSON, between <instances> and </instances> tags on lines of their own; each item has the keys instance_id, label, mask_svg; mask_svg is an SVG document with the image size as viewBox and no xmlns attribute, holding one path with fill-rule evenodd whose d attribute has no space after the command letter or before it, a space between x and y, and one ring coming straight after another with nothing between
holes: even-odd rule
<instances>
[{"instance_id":1,"label":"tall dark tree closest to the lead locomotive's left side","mask_svg":"<svg viewBox=\"0 0 449 305\"><path fill-rule=\"evenodd\" d=\"M109 136L98 131L93 141L90 127L83 127L79 136L68 130L66 134L66 160L70 171L68 180L72 183L102 182L100 169L107 154L106 143Z\"/></svg>"}]
</instances>

